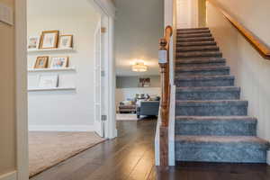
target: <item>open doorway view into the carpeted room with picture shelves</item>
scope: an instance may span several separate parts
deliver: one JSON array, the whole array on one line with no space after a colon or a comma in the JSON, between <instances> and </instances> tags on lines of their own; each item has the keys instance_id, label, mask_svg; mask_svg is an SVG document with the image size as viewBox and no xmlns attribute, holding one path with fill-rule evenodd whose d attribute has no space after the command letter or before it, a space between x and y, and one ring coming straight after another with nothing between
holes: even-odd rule
<instances>
[{"instance_id":1,"label":"open doorway view into the carpeted room with picture shelves","mask_svg":"<svg viewBox=\"0 0 270 180\"><path fill-rule=\"evenodd\" d=\"M88 0L28 0L27 26L29 170L39 179L110 138L109 18Z\"/></svg>"}]
</instances>

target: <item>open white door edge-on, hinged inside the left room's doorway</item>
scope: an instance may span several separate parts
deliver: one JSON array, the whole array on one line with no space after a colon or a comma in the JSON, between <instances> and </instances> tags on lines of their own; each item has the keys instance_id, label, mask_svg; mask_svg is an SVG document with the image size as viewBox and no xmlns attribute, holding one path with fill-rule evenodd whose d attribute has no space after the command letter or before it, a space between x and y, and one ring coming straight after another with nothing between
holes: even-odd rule
<instances>
[{"instance_id":1,"label":"open white door edge-on, hinged inside the left room's doorway","mask_svg":"<svg viewBox=\"0 0 270 180\"><path fill-rule=\"evenodd\" d=\"M94 127L95 131L104 137L103 124L103 33L101 23L98 23L94 34Z\"/></svg>"}]
</instances>

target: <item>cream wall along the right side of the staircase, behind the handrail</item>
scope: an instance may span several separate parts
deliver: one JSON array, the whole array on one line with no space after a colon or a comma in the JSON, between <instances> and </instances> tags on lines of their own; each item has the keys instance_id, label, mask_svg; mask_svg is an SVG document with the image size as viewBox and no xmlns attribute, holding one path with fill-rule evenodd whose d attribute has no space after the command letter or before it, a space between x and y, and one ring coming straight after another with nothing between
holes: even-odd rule
<instances>
[{"instance_id":1,"label":"cream wall along the right side of the staircase, behind the handrail","mask_svg":"<svg viewBox=\"0 0 270 180\"><path fill-rule=\"evenodd\" d=\"M221 6L248 30L270 46L270 2L262 0L219 0ZM262 58L247 40L211 4L207 5L207 26L227 58L231 72L241 86L241 98L248 100L248 114L258 119L258 136L270 140L270 61Z\"/></svg>"}]
</instances>

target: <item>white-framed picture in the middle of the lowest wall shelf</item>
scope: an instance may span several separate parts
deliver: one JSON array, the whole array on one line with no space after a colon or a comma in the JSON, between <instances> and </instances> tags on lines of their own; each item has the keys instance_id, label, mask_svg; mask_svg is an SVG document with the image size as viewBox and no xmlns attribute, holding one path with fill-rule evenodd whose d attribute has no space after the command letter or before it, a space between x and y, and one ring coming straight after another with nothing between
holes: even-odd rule
<instances>
[{"instance_id":1,"label":"white-framed picture in the middle of the lowest wall shelf","mask_svg":"<svg viewBox=\"0 0 270 180\"><path fill-rule=\"evenodd\" d=\"M40 88L55 88L58 87L58 75L40 75Z\"/></svg>"}]
</instances>

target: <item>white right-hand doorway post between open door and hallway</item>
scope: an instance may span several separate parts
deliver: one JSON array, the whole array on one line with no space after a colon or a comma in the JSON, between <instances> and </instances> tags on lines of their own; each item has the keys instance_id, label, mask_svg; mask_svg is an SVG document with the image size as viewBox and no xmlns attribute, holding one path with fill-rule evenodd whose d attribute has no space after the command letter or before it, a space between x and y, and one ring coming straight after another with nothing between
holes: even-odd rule
<instances>
[{"instance_id":1,"label":"white right-hand doorway post between open door and hallway","mask_svg":"<svg viewBox=\"0 0 270 180\"><path fill-rule=\"evenodd\" d=\"M117 137L116 120L115 120L115 59L114 59L114 17L115 7L111 1L107 0L88 0L92 3L97 11L102 14L102 18L106 21L102 21L102 26L106 29L104 34L104 73L105 73L105 86L107 91L105 92L105 99L107 103L107 120L104 121L104 138L113 139ZM104 23L106 22L106 23Z\"/></svg>"}]
</instances>

